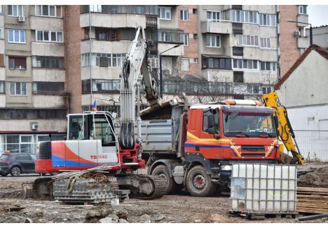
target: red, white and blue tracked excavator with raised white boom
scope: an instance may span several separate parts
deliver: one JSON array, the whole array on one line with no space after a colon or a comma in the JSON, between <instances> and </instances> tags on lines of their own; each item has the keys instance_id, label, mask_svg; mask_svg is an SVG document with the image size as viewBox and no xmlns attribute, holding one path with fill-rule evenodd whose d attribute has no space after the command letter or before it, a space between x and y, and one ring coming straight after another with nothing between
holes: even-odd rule
<instances>
[{"instance_id":1,"label":"red, white and blue tracked excavator with raised white boom","mask_svg":"<svg viewBox=\"0 0 328 228\"><path fill-rule=\"evenodd\" d=\"M55 197L71 203L102 203L126 199L131 195L142 199L163 197L165 178L132 173L145 167L141 159L138 79L144 81L150 106L161 105L156 77L148 63L150 45L144 29L138 27L123 62L119 135L114 131L114 116L93 107L93 111L67 115L67 140L39 143L36 172L59 174L52 178L37 178L33 183L35 198Z\"/></svg>"}]
</instances>

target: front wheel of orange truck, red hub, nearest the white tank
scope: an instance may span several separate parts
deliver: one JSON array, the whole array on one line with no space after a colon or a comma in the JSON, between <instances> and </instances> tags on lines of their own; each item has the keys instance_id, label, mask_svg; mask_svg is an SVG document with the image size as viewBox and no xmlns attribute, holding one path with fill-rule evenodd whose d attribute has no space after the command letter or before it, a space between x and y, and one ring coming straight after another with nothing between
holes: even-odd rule
<instances>
[{"instance_id":1,"label":"front wheel of orange truck, red hub, nearest the white tank","mask_svg":"<svg viewBox=\"0 0 328 228\"><path fill-rule=\"evenodd\" d=\"M186 176L186 187L194 197L210 197L217 190L203 166L194 166Z\"/></svg>"}]
</instances>

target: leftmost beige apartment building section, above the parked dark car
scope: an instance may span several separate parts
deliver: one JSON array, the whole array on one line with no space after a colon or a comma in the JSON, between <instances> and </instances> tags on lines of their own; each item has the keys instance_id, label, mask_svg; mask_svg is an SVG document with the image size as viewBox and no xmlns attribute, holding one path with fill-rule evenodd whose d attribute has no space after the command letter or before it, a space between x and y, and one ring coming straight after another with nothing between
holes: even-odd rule
<instances>
[{"instance_id":1,"label":"leftmost beige apartment building section, above the parked dark car","mask_svg":"<svg viewBox=\"0 0 328 228\"><path fill-rule=\"evenodd\" d=\"M34 152L66 128L62 6L1 6L0 153Z\"/></svg>"}]
</instances>

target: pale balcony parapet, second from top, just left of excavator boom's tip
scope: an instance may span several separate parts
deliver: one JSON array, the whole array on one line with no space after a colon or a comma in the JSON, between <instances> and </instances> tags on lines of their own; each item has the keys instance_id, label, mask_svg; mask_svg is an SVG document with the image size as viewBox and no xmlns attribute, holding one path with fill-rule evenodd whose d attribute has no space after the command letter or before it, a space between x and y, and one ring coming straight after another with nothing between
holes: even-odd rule
<instances>
[{"instance_id":1,"label":"pale balcony parapet, second from top, just left of excavator boom's tip","mask_svg":"<svg viewBox=\"0 0 328 228\"><path fill-rule=\"evenodd\" d=\"M127 53L131 41L97 41L92 40L93 53ZM90 52L90 41L81 42L81 54Z\"/></svg>"}]
</instances>

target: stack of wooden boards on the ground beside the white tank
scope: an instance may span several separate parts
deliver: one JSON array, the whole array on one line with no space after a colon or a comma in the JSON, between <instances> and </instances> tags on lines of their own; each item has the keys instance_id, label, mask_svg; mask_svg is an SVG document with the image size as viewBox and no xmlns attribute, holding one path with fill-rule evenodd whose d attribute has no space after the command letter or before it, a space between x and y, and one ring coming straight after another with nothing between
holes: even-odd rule
<instances>
[{"instance_id":1,"label":"stack of wooden boards on the ground beside the white tank","mask_svg":"<svg viewBox=\"0 0 328 228\"><path fill-rule=\"evenodd\" d=\"M328 213L328 188L298 187L296 211Z\"/></svg>"}]
</instances>

